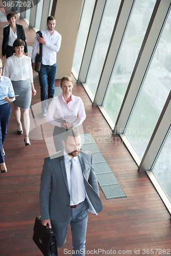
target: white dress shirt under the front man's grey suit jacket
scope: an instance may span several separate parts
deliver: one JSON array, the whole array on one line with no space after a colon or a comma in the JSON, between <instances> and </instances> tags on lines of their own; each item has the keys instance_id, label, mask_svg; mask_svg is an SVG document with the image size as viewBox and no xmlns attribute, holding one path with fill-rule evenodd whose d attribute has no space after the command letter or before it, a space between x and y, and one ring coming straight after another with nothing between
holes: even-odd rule
<instances>
[{"instance_id":1,"label":"white dress shirt under the front man's grey suit jacket","mask_svg":"<svg viewBox=\"0 0 171 256\"><path fill-rule=\"evenodd\" d=\"M64 158L65 158L65 168L66 168L66 176L67 176L67 181L68 181L69 194L71 195L71 182L70 182L70 164L71 164L70 159L71 159L71 157L65 153L65 150L64 150ZM83 172L82 172L79 157L78 156L73 157L73 159L75 160L73 163L74 168L77 169L78 193L79 193L79 201L76 204L79 204L79 203L83 202L86 198L85 185L84 185ZM75 205L74 203L72 203L71 196L70 196L70 205Z\"/></svg>"}]
</instances>

